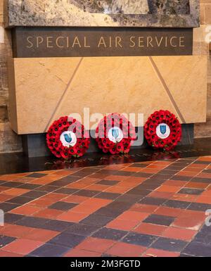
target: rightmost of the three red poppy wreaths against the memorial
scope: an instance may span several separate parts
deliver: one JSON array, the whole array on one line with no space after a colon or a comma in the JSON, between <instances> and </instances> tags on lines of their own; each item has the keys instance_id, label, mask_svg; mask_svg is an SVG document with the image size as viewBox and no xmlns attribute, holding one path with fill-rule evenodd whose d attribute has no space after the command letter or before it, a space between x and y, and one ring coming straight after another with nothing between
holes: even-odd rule
<instances>
[{"instance_id":1,"label":"rightmost of the three red poppy wreaths against the memorial","mask_svg":"<svg viewBox=\"0 0 211 271\"><path fill-rule=\"evenodd\" d=\"M181 124L170 111L155 111L144 125L144 136L154 149L171 151L181 139Z\"/></svg>"}]
</instances>

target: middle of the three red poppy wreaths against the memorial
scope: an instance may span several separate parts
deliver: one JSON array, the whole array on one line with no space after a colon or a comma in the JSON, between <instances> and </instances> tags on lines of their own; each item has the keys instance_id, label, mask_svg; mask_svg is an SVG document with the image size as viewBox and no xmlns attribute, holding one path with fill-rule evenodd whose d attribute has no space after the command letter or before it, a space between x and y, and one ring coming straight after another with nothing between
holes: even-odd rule
<instances>
[{"instance_id":1,"label":"middle of the three red poppy wreaths against the memorial","mask_svg":"<svg viewBox=\"0 0 211 271\"><path fill-rule=\"evenodd\" d=\"M96 142L103 153L129 153L135 139L134 126L118 113L105 116L96 128Z\"/></svg>"}]
</instances>

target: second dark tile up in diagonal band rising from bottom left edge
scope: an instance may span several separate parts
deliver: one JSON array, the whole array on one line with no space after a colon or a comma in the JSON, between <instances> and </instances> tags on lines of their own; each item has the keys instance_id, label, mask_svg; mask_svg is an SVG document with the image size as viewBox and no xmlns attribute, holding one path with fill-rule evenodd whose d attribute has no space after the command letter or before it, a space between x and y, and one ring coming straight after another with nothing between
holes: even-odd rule
<instances>
[{"instance_id":1,"label":"second dark tile up in diagonal band rising from bottom left edge","mask_svg":"<svg viewBox=\"0 0 211 271\"><path fill-rule=\"evenodd\" d=\"M76 234L66 234L62 232L53 239L51 239L48 244L56 244L59 246L67 246L68 248L73 248L80 244L86 237Z\"/></svg>"}]
</instances>

